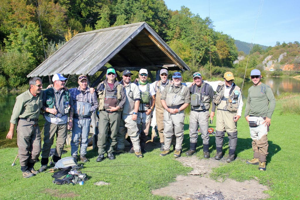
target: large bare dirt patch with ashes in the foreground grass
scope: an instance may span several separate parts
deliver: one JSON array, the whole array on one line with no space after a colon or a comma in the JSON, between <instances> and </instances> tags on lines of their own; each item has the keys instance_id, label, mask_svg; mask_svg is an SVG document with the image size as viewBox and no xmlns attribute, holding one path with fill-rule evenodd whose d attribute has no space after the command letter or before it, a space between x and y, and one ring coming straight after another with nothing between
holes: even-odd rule
<instances>
[{"instance_id":1,"label":"large bare dirt patch with ashes in the foreground grass","mask_svg":"<svg viewBox=\"0 0 300 200\"><path fill-rule=\"evenodd\" d=\"M209 178L211 168L226 164L226 158L221 160L199 159L196 156L180 157L178 159L185 166L193 170L187 176L178 176L176 182L169 186L153 190L152 194L171 196L174 199L267 199L270 196L263 193L267 186L259 184L256 180L237 182L227 178L218 182Z\"/></svg>"}]
</instances>

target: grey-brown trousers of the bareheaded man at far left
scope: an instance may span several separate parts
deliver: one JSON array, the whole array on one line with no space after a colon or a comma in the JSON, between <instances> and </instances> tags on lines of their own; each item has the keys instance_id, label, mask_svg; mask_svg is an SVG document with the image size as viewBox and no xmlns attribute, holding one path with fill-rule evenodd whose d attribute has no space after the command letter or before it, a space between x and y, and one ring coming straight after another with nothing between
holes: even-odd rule
<instances>
[{"instance_id":1,"label":"grey-brown trousers of the bareheaded man at far left","mask_svg":"<svg viewBox=\"0 0 300 200\"><path fill-rule=\"evenodd\" d=\"M19 120L17 144L21 170L25 172L28 163L35 163L41 153L41 131L38 122Z\"/></svg>"}]
</instances>

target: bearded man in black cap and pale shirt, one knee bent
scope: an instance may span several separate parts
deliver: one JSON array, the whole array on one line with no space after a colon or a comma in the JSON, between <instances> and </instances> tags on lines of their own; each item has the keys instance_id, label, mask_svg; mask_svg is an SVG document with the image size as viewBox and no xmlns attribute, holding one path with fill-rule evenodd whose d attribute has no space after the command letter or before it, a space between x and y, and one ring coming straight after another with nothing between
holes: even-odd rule
<instances>
[{"instance_id":1,"label":"bearded man in black cap and pale shirt, one knee bent","mask_svg":"<svg viewBox=\"0 0 300 200\"><path fill-rule=\"evenodd\" d=\"M134 153L136 157L141 158L143 157L143 154L141 152L140 135L137 126L137 115L140 106L141 94L138 86L131 82L132 75L133 74L131 71L124 70L122 75L123 80L120 82L125 89L126 100L124 103L119 132L117 135L118 146L115 152L124 152L125 135L127 133L128 136L130 136L133 145L132 153Z\"/></svg>"}]
</instances>

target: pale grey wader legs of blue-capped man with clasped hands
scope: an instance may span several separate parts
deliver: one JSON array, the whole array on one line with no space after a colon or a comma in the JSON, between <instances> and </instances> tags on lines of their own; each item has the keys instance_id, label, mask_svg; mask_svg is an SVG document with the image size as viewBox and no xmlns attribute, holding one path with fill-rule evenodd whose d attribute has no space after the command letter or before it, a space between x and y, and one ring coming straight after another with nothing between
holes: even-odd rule
<instances>
[{"instance_id":1,"label":"pale grey wader legs of blue-capped man with clasped hands","mask_svg":"<svg viewBox=\"0 0 300 200\"><path fill-rule=\"evenodd\" d=\"M182 141L184 136L184 112L170 114L167 110L164 111L164 150L170 150L172 136L176 136L176 150L182 149Z\"/></svg>"}]
</instances>

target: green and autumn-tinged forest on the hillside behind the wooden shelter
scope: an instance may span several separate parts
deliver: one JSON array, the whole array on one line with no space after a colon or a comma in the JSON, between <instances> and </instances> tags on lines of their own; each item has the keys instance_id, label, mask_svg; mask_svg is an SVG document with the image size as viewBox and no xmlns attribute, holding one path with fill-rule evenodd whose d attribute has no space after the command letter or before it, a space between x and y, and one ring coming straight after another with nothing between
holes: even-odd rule
<instances>
[{"instance_id":1,"label":"green and autumn-tinged forest on the hillside behind the wooden shelter","mask_svg":"<svg viewBox=\"0 0 300 200\"><path fill-rule=\"evenodd\" d=\"M210 74L220 76L228 69L242 71L245 67L244 62L233 64L243 52L238 52L234 38L214 31L211 19L202 19L184 6L170 10L163 0L0 2L1 90L26 84L26 75L77 33L143 21L191 68L184 72L185 81L195 71L209 78ZM286 45L299 49L299 43ZM250 53L255 56L250 60L249 69L256 67L262 55L272 49L254 47Z\"/></svg>"}]
</instances>

